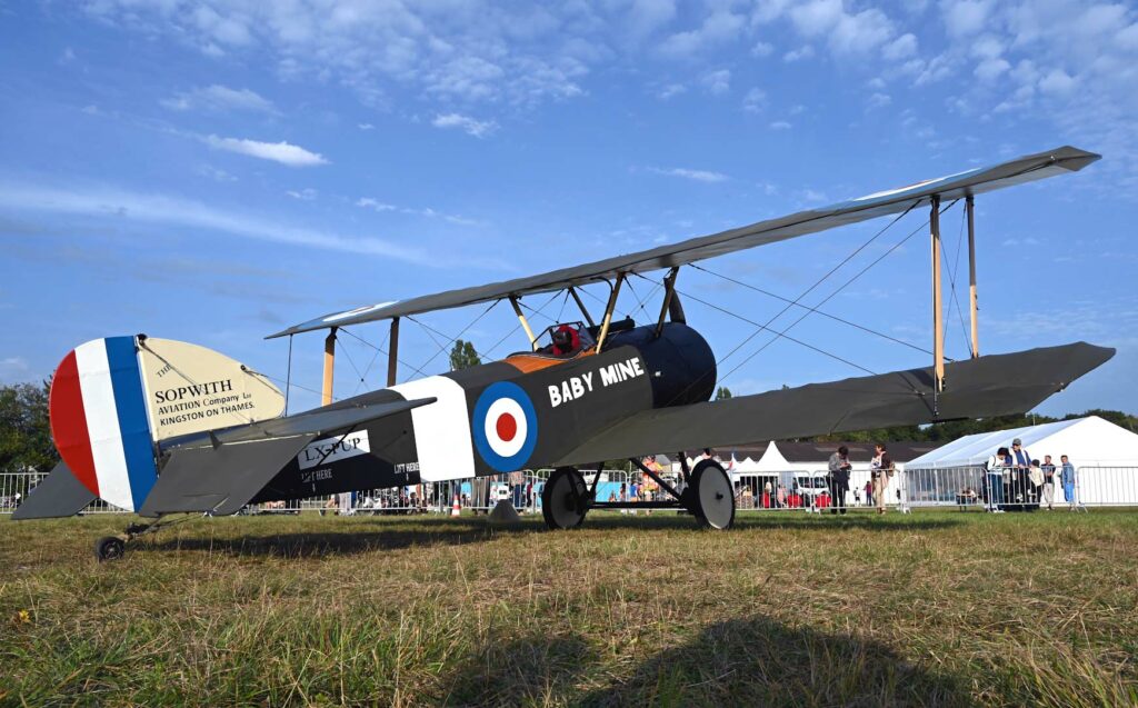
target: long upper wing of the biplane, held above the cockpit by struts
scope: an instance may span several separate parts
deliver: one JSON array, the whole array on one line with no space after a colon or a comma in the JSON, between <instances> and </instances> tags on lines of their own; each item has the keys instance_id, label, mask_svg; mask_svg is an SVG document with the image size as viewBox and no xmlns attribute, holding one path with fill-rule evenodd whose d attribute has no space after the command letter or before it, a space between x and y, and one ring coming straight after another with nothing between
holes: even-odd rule
<instances>
[{"instance_id":1,"label":"long upper wing of the biplane, held above the cockpit by struts","mask_svg":"<svg viewBox=\"0 0 1138 708\"><path fill-rule=\"evenodd\" d=\"M770 219L740 227L729 231L668 244L650 250L628 254L564 267L541 275L518 278L472 288L448 290L436 295L424 295L398 303L365 305L347 312L327 314L308 322L290 327L270 335L283 337L298 332L346 327L376 320L387 320L404 315L462 307L477 303L501 299L511 295L547 293L569 286L585 285L616 278L619 273L640 273L674 265L685 265L694 261L721 256L744 248L774 244L785 239L815 233L846 224L898 214L927 201L934 195L941 199L958 199L1013 184L1077 172L1102 157L1072 147L1061 147L1036 155L1028 155L990 167L978 167L946 178L925 180L900 189L875 192L840 204L799 212L780 219Z\"/></svg>"}]
</instances>

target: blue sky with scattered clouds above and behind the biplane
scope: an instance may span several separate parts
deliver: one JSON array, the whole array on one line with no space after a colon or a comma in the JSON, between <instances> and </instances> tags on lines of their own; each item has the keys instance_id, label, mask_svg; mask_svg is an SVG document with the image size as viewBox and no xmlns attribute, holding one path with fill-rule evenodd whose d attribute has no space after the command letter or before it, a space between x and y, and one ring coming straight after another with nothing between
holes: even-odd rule
<instances>
[{"instance_id":1,"label":"blue sky with scattered clouds above and behind the biplane","mask_svg":"<svg viewBox=\"0 0 1138 708\"><path fill-rule=\"evenodd\" d=\"M1038 411L1138 412L1136 67L1133 2L0 0L0 384L145 332L291 376L300 410L322 335L292 340L291 369L264 337L316 315L1073 145L1104 158L976 200L981 353L1116 347ZM720 384L927 365L926 219L684 269ZM942 234L960 359L960 205ZM757 329L784 303L752 288L819 280L803 304L888 338L799 307L770 323L797 341ZM654 320L660 290L630 285L618 312ZM525 303L536 327L579 318ZM446 370L456 336L523 349L517 328L508 304L405 320L399 378ZM337 397L386 379L386 323L348 331Z\"/></svg>"}]
</instances>

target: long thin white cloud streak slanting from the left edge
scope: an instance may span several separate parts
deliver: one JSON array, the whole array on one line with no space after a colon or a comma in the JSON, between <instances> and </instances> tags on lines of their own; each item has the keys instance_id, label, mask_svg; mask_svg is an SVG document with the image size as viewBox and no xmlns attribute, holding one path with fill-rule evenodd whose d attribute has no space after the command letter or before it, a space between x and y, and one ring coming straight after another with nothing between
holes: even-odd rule
<instances>
[{"instance_id":1,"label":"long thin white cloud streak slanting from the left edge","mask_svg":"<svg viewBox=\"0 0 1138 708\"><path fill-rule=\"evenodd\" d=\"M200 201L162 194L105 187L66 190L9 183L0 189L0 205L17 212L47 212L205 229L261 241L384 256L421 265L442 263L432 254L384 239L304 229L257 214L218 209Z\"/></svg>"}]
</instances>

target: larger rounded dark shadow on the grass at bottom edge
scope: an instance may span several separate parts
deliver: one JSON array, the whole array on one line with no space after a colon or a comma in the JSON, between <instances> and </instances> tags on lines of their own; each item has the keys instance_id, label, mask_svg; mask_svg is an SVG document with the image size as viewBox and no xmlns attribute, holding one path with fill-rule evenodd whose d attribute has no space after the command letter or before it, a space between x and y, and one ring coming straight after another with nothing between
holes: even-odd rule
<instances>
[{"instance_id":1,"label":"larger rounded dark shadow on the grass at bottom edge","mask_svg":"<svg viewBox=\"0 0 1138 708\"><path fill-rule=\"evenodd\" d=\"M964 682L880 642L756 617L704 628L578 706L970 706Z\"/></svg>"}]
</instances>

